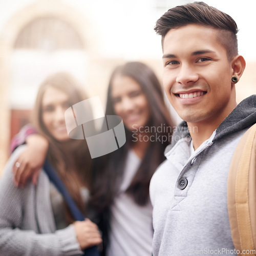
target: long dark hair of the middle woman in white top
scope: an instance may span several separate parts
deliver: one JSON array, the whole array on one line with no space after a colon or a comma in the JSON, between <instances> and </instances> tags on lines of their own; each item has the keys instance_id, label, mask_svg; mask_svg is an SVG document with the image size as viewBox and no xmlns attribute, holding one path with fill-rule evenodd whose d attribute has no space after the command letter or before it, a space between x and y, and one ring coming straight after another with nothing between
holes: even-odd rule
<instances>
[{"instance_id":1,"label":"long dark hair of the middle woman in white top","mask_svg":"<svg viewBox=\"0 0 256 256\"><path fill-rule=\"evenodd\" d=\"M154 71L142 62L128 62L125 65L117 67L111 75L108 99L106 103L106 115L116 115L112 100L112 81L116 75L127 76L134 79L140 85L150 105L150 121L148 126L152 127L169 127L173 126L169 112L164 104L163 93ZM162 129L158 136L171 135L170 129ZM113 202L113 199L119 188L119 181L123 174L127 152L131 148L132 132L125 128L126 143L124 146L105 156L106 166L99 167L98 176L95 180L95 195L92 198L99 208L107 208ZM162 138L162 137L161 137ZM130 184L126 193L132 196L138 205L145 205L149 199L148 187L152 175L157 166L164 160L164 148L169 144L165 141L151 141L148 144L145 155L141 164ZM104 163L104 161L102 161ZM101 163L102 163L101 162ZM100 178L99 178L100 177Z\"/></svg>"}]
</instances>

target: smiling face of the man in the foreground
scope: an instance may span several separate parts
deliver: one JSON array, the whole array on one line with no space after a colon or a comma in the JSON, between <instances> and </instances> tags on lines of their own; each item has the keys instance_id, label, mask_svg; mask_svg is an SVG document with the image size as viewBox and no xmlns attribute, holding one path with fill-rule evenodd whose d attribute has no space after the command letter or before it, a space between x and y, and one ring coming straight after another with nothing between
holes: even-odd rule
<instances>
[{"instance_id":1,"label":"smiling face of the man in the foreground","mask_svg":"<svg viewBox=\"0 0 256 256\"><path fill-rule=\"evenodd\" d=\"M179 116L219 122L236 107L232 67L218 31L201 25L171 29L163 41L163 85Z\"/></svg>"}]
</instances>

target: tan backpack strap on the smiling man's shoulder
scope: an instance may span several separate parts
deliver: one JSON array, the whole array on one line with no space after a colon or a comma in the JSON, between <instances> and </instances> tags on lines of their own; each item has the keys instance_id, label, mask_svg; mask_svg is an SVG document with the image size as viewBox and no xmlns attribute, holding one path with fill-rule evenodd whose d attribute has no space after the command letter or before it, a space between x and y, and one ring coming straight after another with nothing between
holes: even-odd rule
<instances>
[{"instance_id":1,"label":"tan backpack strap on the smiling man's shoulder","mask_svg":"<svg viewBox=\"0 0 256 256\"><path fill-rule=\"evenodd\" d=\"M256 124L243 135L230 163L228 215L239 255L256 255Z\"/></svg>"}]
</instances>

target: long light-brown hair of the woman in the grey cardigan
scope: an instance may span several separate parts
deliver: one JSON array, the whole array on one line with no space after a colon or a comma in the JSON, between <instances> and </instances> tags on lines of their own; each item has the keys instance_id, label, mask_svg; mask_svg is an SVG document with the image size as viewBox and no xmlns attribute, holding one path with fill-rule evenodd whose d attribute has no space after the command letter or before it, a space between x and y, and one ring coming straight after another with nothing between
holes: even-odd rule
<instances>
[{"instance_id":1,"label":"long light-brown hair of the woman in the grey cardigan","mask_svg":"<svg viewBox=\"0 0 256 256\"><path fill-rule=\"evenodd\" d=\"M86 214L86 205L80 195L80 187L78 184L84 184L90 189L92 179L92 159L90 157L88 145L84 140L73 140L69 143L70 154L63 151L61 142L56 140L47 130L44 121L42 120L42 99L45 91L53 87L62 92L65 92L69 96L69 104L74 105L84 99L86 95L83 90L78 86L78 82L67 73L56 73L46 78L40 85L33 109L33 124L37 131L42 136L46 137L49 141L48 159L56 169L62 182L67 187L76 205L80 208L83 214ZM68 158L72 158L75 163L74 171L70 165ZM66 219L68 223L74 221L71 212L66 205Z\"/></svg>"}]
</instances>

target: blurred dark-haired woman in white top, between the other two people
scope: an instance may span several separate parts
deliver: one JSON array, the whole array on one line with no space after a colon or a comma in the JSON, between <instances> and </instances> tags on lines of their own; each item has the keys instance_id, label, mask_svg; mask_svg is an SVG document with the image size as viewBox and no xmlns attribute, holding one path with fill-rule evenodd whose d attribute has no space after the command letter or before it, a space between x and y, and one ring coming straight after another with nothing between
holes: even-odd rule
<instances>
[{"instance_id":1,"label":"blurred dark-haired woman in white top, between the other two people","mask_svg":"<svg viewBox=\"0 0 256 256\"><path fill-rule=\"evenodd\" d=\"M128 62L114 70L106 115L120 116L126 134L124 146L99 162L92 189L92 204L101 212L106 255L149 256L153 227L148 188L164 160L173 125L150 67Z\"/></svg>"}]
</instances>

